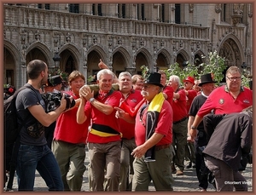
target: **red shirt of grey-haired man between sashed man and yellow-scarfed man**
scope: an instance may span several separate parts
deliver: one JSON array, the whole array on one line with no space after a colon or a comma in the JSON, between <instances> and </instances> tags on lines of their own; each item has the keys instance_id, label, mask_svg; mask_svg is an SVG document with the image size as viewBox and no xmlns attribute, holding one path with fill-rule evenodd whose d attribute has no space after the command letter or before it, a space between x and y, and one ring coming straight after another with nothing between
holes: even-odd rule
<instances>
[{"instance_id":1,"label":"red shirt of grey-haired man between sashed man and yellow-scarfed man","mask_svg":"<svg viewBox=\"0 0 256 195\"><path fill-rule=\"evenodd\" d=\"M125 99L124 95L122 95L123 99ZM137 104L143 100L143 95L138 90L132 89L130 94L125 99L125 104L134 108ZM134 127L135 123L128 123L124 119L119 118L120 124L120 132L123 134L123 138L131 139L134 137Z\"/></svg>"}]
</instances>

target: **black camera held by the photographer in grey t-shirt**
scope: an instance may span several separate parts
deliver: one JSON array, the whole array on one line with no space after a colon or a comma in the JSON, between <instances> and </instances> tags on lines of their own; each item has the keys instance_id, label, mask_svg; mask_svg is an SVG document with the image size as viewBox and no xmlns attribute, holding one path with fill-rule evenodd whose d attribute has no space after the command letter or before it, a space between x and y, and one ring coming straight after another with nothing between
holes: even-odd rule
<instances>
[{"instance_id":1,"label":"black camera held by the photographer in grey t-shirt","mask_svg":"<svg viewBox=\"0 0 256 195\"><path fill-rule=\"evenodd\" d=\"M70 95L67 95L61 92L56 92L56 93L49 92L42 95L42 98L44 100L44 104L46 107L46 112L55 111L55 109L61 105L62 95L64 95L65 100L67 100L66 109L69 109L75 106L76 102L75 100L72 100L72 101L70 100Z\"/></svg>"}]
</instances>

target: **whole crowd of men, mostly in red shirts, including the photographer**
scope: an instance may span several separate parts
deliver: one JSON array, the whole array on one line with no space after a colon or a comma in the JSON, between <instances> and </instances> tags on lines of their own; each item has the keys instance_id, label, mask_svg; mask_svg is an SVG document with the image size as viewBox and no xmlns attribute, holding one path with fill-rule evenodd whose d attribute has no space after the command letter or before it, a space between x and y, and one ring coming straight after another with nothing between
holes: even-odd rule
<instances>
[{"instance_id":1,"label":"whole crowd of men, mostly in red shirts, including the photographer","mask_svg":"<svg viewBox=\"0 0 256 195\"><path fill-rule=\"evenodd\" d=\"M22 90L16 100L20 117L30 116L20 131L19 191L33 190L36 169L49 191L80 191L85 145L93 192L148 191L151 181L156 191L173 191L172 174L191 168L200 192L207 192L209 182L216 191L247 191L239 167L252 146L253 92L241 86L238 67L230 66L219 87L211 72L181 82L164 71L116 77L102 60L99 67L97 90L73 71L64 91L60 76L48 77L44 61L28 63L26 85L33 89ZM75 106L67 109L62 97L55 111L45 112L40 94L57 91L70 95ZM44 133L28 135L33 123Z\"/></svg>"}]
</instances>

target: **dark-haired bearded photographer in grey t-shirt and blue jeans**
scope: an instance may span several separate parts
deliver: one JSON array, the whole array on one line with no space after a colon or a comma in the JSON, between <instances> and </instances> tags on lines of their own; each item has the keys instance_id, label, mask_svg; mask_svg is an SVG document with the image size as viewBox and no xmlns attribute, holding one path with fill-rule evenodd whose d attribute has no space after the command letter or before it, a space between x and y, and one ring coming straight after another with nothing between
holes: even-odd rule
<instances>
[{"instance_id":1,"label":"dark-haired bearded photographer in grey t-shirt and blue jeans","mask_svg":"<svg viewBox=\"0 0 256 195\"><path fill-rule=\"evenodd\" d=\"M20 91L16 99L20 129L20 148L17 157L19 191L33 191L35 172L43 177L49 191L63 191L61 172L44 137L44 126L53 123L65 111L67 100L53 112L45 112L45 104L39 89L47 82L48 66L42 60L32 60L26 66L29 89Z\"/></svg>"}]
</instances>

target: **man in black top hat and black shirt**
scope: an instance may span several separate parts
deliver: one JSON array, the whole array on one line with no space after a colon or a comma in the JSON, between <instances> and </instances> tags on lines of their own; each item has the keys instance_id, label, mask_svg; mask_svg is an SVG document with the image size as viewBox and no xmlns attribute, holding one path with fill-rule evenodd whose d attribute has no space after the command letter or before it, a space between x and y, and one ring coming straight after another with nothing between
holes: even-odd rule
<instances>
[{"instance_id":1,"label":"man in black top hat and black shirt","mask_svg":"<svg viewBox=\"0 0 256 195\"><path fill-rule=\"evenodd\" d=\"M195 115L207 100L207 97L212 93L215 83L216 81L212 79L211 73L201 75L201 83L199 83L199 86L201 87L201 95L195 97L189 109L188 141L190 141L189 130L191 124L195 120ZM205 169L206 164L204 163L204 158L202 156L202 150L207 146L207 142L207 135L203 123L201 122L197 128L197 137L195 139L195 171L201 192L206 192L208 186L209 171L208 169Z\"/></svg>"}]
</instances>

